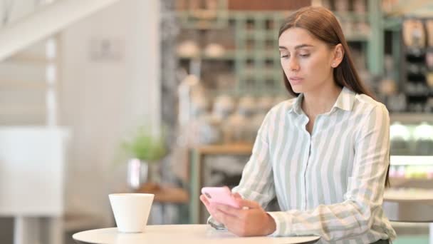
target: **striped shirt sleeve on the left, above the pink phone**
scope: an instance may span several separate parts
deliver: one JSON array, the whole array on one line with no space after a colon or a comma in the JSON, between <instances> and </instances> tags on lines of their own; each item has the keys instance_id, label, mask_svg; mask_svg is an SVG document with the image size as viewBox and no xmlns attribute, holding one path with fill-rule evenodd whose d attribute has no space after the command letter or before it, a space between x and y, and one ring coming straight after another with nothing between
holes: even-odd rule
<instances>
[{"instance_id":1,"label":"striped shirt sleeve on the left, above the pink phone","mask_svg":"<svg viewBox=\"0 0 433 244\"><path fill-rule=\"evenodd\" d=\"M239 193L242 198L258 202L262 208L266 208L268 203L275 197L268 144L268 133L273 131L272 114L272 110L266 114L264 122L257 132L251 157L242 171L241 181L239 185L231 190L233 193ZM212 219L212 216L207 222L219 225Z\"/></svg>"}]
</instances>

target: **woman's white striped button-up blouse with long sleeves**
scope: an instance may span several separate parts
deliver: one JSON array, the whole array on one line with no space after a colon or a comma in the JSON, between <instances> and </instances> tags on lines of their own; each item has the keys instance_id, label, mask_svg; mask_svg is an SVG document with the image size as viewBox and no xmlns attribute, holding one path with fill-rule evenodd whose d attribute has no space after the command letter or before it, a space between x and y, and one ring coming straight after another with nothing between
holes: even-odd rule
<instances>
[{"instance_id":1,"label":"woman's white striped button-up blouse with long sleeves","mask_svg":"<svg viewBox=\"0 0 433 244\"><path fill-rule=\"evenodd\" d=\"M382 210L390 118L382 103L343 88L313 132L303 94L268 112L233 192L263 208L277 198L273 236L320 235L319 243L395 239Z\"/></svg>"}]
</instances>

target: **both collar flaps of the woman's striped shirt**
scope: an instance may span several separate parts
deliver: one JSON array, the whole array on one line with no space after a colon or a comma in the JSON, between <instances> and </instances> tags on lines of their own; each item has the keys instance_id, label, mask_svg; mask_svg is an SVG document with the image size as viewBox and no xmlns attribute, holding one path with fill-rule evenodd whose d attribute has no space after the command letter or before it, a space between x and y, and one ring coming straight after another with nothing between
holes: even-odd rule
<instances>
[{"instance_id":1,"label":"both collar flaps of the woman's striped shirt","mask_svg":"<svg viewBox=\"0 0 433 244\"><path fill-rule=\"evenodd\" d=\"M335 101L333 108L331 108L331 111L333 111L334 108L340 108L345 111L352 111L353 103L355 102L355 96L356 93L354 91L351 91L349 88L343 87L340 95L338 95L337 101ZM301 108L302 99L303 93L299 94L298 97L295 98L295 102L293 103L293 106L291 106L291 108L288 110L288 112L295 112L298 115L303 114Z\"/></svg>"}]
</instances>

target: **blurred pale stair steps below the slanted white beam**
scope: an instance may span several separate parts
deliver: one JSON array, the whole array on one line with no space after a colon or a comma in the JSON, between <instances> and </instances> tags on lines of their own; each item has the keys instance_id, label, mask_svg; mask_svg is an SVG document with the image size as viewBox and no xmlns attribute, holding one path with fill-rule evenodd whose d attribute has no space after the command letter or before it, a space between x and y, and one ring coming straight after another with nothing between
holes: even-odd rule
<instances>
[{"instance_id":1,"label":"blurred pale stair steps below the slanted white beam","mask_svg":"<svg viewBox=\"0 0 433 244\"><path fill-rule=\"evenodd\" d=\"M56 126L58 38L50 37L0 62L0 126Z\"/></svg>"}]
</instances>

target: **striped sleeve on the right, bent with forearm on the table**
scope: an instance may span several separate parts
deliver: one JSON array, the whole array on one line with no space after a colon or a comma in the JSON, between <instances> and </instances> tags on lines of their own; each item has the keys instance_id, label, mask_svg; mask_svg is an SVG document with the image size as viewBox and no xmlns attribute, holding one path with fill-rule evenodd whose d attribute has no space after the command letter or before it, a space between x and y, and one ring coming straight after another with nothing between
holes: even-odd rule
<instances>
[{"instance_id":1,"label":"striped sleeve on the right, bent with forearm on the table","mask_svg":"<svg viewBox=\"0 0 433 244\"><path fill-rule=\"evenodd\" d=\"M367 112L368 113L368 112ZM362 118L355 132L355 159L343 203L311 210L269 212L276 222L273 236L320 235L339 240L365 233L382 215L385 176L389 165L390 118L380 104Z\"/></svg>"}]
</instances>

